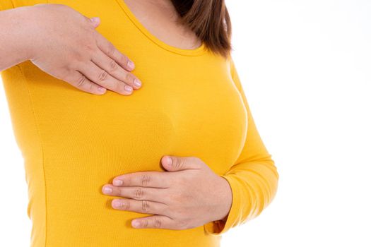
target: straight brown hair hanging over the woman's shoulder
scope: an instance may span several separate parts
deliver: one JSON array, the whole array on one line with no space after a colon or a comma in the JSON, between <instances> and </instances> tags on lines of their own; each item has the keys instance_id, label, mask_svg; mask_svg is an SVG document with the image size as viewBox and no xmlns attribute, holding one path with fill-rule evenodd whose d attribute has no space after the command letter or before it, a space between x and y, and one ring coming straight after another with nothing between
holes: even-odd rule
<instances>
[{"instance_id":1,"label":"straight brown hair hanging over the woman's shoulder","mask_svg":"<svg viewBox=\"0 0 371 247\"><path fill-rule=\"evenodd\" d=\"M230 16L224 0L172 0L182 24L212 52L227 57L232 49Z\"/></svg>"}]
</instances>

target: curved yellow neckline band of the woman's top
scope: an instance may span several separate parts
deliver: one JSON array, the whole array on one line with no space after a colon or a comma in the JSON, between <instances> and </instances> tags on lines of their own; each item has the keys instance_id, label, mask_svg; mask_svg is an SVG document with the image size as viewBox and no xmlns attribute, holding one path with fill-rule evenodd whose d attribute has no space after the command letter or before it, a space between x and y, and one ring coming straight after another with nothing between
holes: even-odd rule
<instances>
[{"instance_id":1,"label":"curved yellow neckline band of the woman's top","mask_svg":"<svg viewBox=\"0 0 371 247\"><path fill-rule=\"evenodd\" d=\"M156 37L155 35L153 35L139 21L139 19L136 18L136 16L134 15L133 12L131 12L129 6L126 5L126 3L124 2L124 0L116 0L116 1L117 1L117 4L119 4L119 6L121 6L121 8L124 11L124 13L126 13L126 16L128 16L128 18L131 20L131 23L133 23L136 26L136 28L138 28L141 32L143 32L143 34L146 35L146 37L149 40L151 40L155 44L158 44L159 47L162 47L163 49L166 49L169 52L175 52L177 54L184 55L184 56L199 56L201 54L204 54L204 52L206 52L207 49L206 49L206 45L204 44L204 42L201 42L201 46L196 47L195 49L182 49L182 48L174 47L174 46L172 46L170 44L167 44L167 43L163 42L158 37Z\"/></svg>"}]
</instances>

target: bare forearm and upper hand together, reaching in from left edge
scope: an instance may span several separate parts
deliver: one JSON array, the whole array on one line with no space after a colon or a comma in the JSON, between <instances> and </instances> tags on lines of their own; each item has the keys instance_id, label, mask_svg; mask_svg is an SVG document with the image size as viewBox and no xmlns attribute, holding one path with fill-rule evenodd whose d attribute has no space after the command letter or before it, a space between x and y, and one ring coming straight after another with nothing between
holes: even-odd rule
<instances>
[{"instance_id":1,"label":"bare forearm and upper hand together, reaching in from left edge","mask_svg":"<svg viewBox=\"0 0 371 247\"><path fill-rule=\"evenodd\" d=\"M0 70L30 60L80 90L131 95L140 88L130 72L134 63L95 30L99 18L93 20L62 4L0 11Z\"/></svg>"}]
</instances>

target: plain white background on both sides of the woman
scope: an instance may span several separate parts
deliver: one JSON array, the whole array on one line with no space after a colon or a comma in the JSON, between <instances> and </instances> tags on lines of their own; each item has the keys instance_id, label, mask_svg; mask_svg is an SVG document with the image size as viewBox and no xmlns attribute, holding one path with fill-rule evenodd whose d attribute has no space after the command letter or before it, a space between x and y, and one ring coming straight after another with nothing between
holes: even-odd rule
<instances>
[{"instance_id":1,"label":"plain white background on both sides of the woman","mask_svg":"<svg viewBox=\"0 0 371 247\"><path fill-rule=\"evenodd\" d=\"M371 246L371 1L227 6L232 56L280 181L271 205L222 246ZM0 246L28 246L23 159L2 88L0 123Z\"/></svg>"}]
</instances>

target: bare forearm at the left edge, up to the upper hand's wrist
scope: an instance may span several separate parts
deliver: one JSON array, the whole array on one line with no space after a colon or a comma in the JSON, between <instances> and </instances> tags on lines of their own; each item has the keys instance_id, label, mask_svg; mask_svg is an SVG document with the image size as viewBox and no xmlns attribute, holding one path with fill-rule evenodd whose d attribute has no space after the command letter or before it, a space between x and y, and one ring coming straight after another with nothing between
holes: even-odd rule
<instances>
[{"instance_id":1,"label":"bare forearm at the left edge, up to the upper hand's wrist","mask_svg":"<svg viewBox=\"0 0 371 247\"><path fill-rule=\"evenodd\" d=\"M32 6L0 11L0 71L30 59Z\"/></svg>"}]
</instances>

